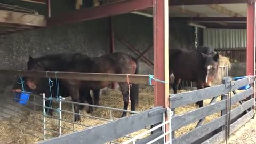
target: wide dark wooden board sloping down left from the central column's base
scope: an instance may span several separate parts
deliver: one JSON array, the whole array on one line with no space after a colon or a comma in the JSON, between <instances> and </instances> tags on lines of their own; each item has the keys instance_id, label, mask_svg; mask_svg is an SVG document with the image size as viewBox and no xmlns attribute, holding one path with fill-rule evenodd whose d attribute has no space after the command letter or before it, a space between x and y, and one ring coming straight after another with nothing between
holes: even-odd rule
<instances>
[{"instance_id":1,"label":"wide dark wooden board sloping down left from the central column's base","mask_svg":"<svg viewBox=\"0 0 256 144\"><path fill-rule=\"evenodd\" d=\"M154 113L155 111L161 111L162 113ZM130 117L123 117L110 123L62 135L61 137L53 138L41 143L106 143L123 137L123 135L144 129L147 126L163 122L163 113L165 113L165 111L166 110L163 110L162 107L156 107Z\"/></svg>"}]
</instances>

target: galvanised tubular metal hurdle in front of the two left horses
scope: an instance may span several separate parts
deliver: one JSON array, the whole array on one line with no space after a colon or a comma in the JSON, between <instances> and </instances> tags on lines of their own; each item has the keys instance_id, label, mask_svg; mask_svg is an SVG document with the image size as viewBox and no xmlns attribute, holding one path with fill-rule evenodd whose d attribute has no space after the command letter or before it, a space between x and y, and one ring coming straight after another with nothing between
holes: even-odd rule
<instances>
[{"instance_id":1,"label":"galvanised tubular metal hurdle in front of the two left horses","mask_svg":"<svg viewBox=\"0 0 256 144\"><path fill-rule=\"evenodd\" d=\"M14 93L14 95L15 94L16 93ZM127 112L127 115L139 113L138 111L73 102L62 97L46 98L45 94L30 94L29 100L14 97L14 101L26 101L26 105L14 102L5 102L7 105L1 105L0 116L9 121L10 126L22 131L23 133L31 135L35 142L52 139L75 131L112 122L115 119L120 118L123 111ZM47 101L51 102L51 106L46 106L45 103L47 103ZM74 105L93 107L94 112L92 114L88 114L85 110L82 110L80 113L75 113ZM22 109L22 111L18 109ZM52 116L48 114L49 110L53 111ZM99 111L103 111L103 113L99 113ZM4 114L9 115L10 117L5 117ZM75 114L81 116L81 121L74 121ZM110 141L109 143L121 143L148 129L150 128L145 127L145 129L129 135L124 135L123 137L116 139L115 141Z\"/></svg>"}]
</instances>

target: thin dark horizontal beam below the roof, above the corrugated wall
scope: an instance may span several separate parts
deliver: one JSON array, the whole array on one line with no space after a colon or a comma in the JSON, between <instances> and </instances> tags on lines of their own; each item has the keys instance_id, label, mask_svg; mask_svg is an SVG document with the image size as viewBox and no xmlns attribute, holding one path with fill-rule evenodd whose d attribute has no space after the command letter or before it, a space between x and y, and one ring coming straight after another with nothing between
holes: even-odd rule
<instances>
[{"instance_id":1,"label":"thin dark horizontal beam below the roof, above the corrugated wall","mask_svg":"<svg viewBox=\"0 0 256 144\"><path fill-rule=\"evenodd\" d=\"M246 17L172 17L169 20L181 21L246 21Z\"/></svg>"}]
</instances>

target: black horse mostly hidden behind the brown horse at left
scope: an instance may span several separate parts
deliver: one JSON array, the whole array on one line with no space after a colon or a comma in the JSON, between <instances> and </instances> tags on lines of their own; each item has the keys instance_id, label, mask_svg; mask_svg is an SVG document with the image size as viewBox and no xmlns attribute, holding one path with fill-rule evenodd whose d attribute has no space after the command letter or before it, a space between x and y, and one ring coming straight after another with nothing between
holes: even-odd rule
<instances>
[{"instance_id":1,"label":"black horse mostly hidden behind the brown horse at left","mask_svg":"<svg viewBox=\"0 0 256 144\"><path fill-rule=\"evenodd\" d=\"M70 62L72 58L74 57L75 54L54 54L54 55L47 55L44 57L39 57L36 59L33 59L31 56L29 56L29 61L27 63L28 65L28 70L37 70L37 71L63 71L65 68L63 67L68 67L70 65ZM50 84L52 87L49 86L49 79L47 78L33 78L40 83L37 87L33 87L33 89L30 89L30 87L26 83L26 77L25 77L25 91L28 92L33 92L35 94L39 93L45 93L46 97L50 96L62 96L62 97L69 97L70 93L68 89L66 88L65 85L61 82L62 79L56 79L56 78L51 78ZM19 81L19 80L18 80ZM58 83L57 83L58 82ZM59 86L57 87L57 84ZM21 90L21 85L14 85L13 87L15 92L19 92ZM51 89L51 91L50 91ZM94 101L90 95L90 90L81 90L79 91L81 97L79 97L80 102L85 103L87 101L89 104L94 105L99 105L99 94L100 90L93 90L93 97ZM71 95L72 97L72 95ZM50 101L46 101L45 105L47 107L50 106ZM80 110L84 108L83 105L81 105ZM89 106L89 109L87 110L87 113L91 113L93 111L93 108ZM47 109L46 112L52 116L52 109Z\"/></svg>"}]
</instances>

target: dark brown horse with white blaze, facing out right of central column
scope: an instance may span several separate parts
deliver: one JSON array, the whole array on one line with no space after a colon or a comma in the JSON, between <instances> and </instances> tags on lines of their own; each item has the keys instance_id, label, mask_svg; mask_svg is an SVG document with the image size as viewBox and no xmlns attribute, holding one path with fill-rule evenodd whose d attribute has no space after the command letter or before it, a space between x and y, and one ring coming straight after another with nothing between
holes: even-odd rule
<instances>
[{"instance_id":1,"label":"dark brown horse with white blaze, facing out right of central column","mask_svg":"<svg viewBox=\"0 0 256 144\"><path fill-rule=\"evenodd\" d=\"M197 89L209 87L209 80L218 70L219 54L206 55L187 49L169 49L169 73L174 75L173 92L177 93L180 79L193 81ZM203 101L197 102L203 107Z\"/></svg>"}]
</instances>

